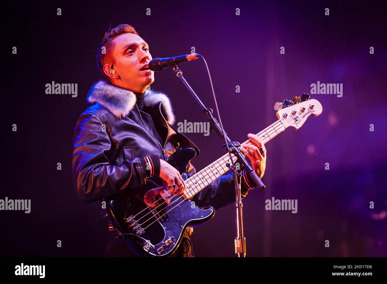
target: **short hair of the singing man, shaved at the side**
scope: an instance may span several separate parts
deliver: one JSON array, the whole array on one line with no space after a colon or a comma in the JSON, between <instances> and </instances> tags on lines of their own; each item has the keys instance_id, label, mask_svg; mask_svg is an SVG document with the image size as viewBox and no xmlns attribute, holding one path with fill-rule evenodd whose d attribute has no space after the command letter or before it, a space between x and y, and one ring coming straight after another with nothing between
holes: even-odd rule
<instances>
[{"instance_id":1,"label":"short hair of the singing man, shaved at the side","mask_svg":"<svg viewBox=\"0 0 387 284\"><path fill-rule=\"evenodd\" d=\"M98 70L102 73L102 75L108 79L110 82L110 78L108 75L106 75L103 71L103 66L105 65L105 62L112 62L115 63L114 58L110 55L109 51L111 48L114 47L113 39L116 36L119 36L120 34L137 34L137 31L134 29L134 27L127 25L127 24L121 24L116 26L115 28L109 28L107 32L105 32L105 36L103 37L102 43L98 48L97 51L97 67ZM105 48L105 53L102 53L103 48Z\"/></svg>"}]
</instances>

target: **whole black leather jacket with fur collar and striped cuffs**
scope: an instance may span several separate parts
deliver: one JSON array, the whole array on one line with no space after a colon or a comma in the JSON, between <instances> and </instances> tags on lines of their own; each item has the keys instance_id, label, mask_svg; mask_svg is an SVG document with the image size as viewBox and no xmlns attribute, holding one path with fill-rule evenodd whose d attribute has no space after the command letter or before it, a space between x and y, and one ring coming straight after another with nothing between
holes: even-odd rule
<instances>
[{"instance_id":1,"label":"whole black leather jacket with fur collar and striped cuffs","mask_svg":"<svg viewBox=\"0 0 387 284\"><path fill-rule=\"evenodd\" d=\"M74 189L81 201L98 201L124 191L137 192L148 177L159 174L159 159L168 158L178 147L190 146L199 155L197 146L173 128L173 110L163 93L148 88L141 112L144 123L156 129L162 143L150 133L151 129L144 127L133 92L99 81L92 86L87 101L92 105L77 120L73 139ZM173 128L176 135L166 141L168 128ZM146 167L147 163L152 170ZM188 173L195 173L192 164ZM253 182L244 178L242 197L253 187ZM197 206L211 205L215 209L235 202L232 173L220 176L192 201Z\"/></svg>"}]
</instances>

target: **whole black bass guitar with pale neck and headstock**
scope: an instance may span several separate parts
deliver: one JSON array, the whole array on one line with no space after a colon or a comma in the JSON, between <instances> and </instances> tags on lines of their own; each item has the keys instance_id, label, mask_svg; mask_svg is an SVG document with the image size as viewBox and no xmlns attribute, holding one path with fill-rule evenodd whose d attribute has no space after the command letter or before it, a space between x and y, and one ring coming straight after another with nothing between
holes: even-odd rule
<instances>
[{"instance_id":1,"label":"whole black bass guitar with pale neck and headstock","mask_svg":"<svg viewBox=\"0 0 387 284\"><path fill-rule=\"evenodd\" d=\"M309 100L308 94L301 97L293 97L292 101L284 100L286 106L277 102L274 109L277 110L278 120L265 128L257 135L266 144L272 138L288 127L299 129L309 116L318 116L322 112L322 105L318 100ZM293 104L294 103L294 104ZM252 143L247 140L245 144ZM216 180L217 177L229 170L229 155L225 154L209 166L189 177L186 172L187 164L195 157L193 148L181 148L175 151L167 162L176 168L183 179L186 180L189 194L196 194L204 187ZM236 161L236 159L235 159ZM189 180L187 180L189 177ZM201 182L197 182L197 181ZM153 190L152 190L153 189ZM105 214L118 232L121 233L125 243L138 256L144 257L169 257L180 245L183 234L188 226L198 226L211 219L215 210L213 207L200 208L192 203L183 192L181 195L170 198L169 204L155 190L164 190L162 180L159 177L148 179L141 192L136 194L120 194L115 199L106 200ZM151 191L149 191L151 190ZM158 202L154 208L146 206L146 203Z\"/></svg>"}]
</instances>

